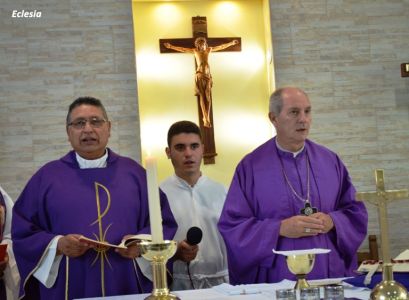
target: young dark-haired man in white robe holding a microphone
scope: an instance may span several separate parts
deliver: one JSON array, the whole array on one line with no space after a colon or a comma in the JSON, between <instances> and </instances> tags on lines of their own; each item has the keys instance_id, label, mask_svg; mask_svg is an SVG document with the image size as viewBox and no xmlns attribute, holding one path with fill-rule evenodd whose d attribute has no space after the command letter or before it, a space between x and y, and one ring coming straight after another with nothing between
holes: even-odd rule
<instances>
[{"instance_id":1,"label":"young dark-haired man in white robe holding a microphone","mask_svg":"<svg viewBox=\"0 0 409 300\"><path fill-rule=\"evenodd\" d=\"M166 154L175 174L160 187L178 223L172 289L203 289L228 282L226 249L216 226L226 189L200 171L203 143L199 127L190 121L174 123L168 131ZM193 226L203 232L199 245L185 240Z\"/></svg>"}]
</instances>

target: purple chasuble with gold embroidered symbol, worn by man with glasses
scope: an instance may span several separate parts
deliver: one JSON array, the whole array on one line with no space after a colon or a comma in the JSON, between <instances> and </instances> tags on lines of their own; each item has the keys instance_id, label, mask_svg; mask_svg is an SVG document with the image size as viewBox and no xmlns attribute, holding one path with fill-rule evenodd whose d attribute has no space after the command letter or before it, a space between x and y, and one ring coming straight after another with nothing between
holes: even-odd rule
<instances>
[{"instance_id":1,"label":"purple chasuble with gold embroidered symbol, worn by man with glasses","mask_svg":"<svg viewBox=\"0 0 409 300\"><path fill-rule=\"evenodd\" d=\"M160 193L163 233L172 239L177 224ZM150 233L145 170L108 149L106 168L80 169L71 151L30 179L13 208L12 238L23 299L68 299L150 292L151 282L136 262L109 249L64 256L58 277L46 288L34 276L57 235L82 234L119 244L127 234ZM68 273L68 276L66 276Z\"/></svg>"}]
</instances>

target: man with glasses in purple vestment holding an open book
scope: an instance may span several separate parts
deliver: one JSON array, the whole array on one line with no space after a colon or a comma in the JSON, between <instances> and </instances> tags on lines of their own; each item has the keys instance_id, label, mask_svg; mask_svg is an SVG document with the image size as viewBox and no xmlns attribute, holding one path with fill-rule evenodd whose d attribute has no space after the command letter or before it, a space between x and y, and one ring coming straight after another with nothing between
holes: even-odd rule
<instances>
[{"instance_id":1,"label":"man with glasses in purple vestment holding an open book","mask_svg":"<svg viewBox=\"0 0 409 300\"><path fill-rule=\"evenodd\" d=\"M145 170L107 148L111 123L92 97L69 107L66 130L73 148L29 180L13 209L12 238L22 299L75 299L150 292L127 249L96 247L81 236L120 244L150 233ZM177 225L161 192L163 231Z\"/></svg>"}]
</instances>

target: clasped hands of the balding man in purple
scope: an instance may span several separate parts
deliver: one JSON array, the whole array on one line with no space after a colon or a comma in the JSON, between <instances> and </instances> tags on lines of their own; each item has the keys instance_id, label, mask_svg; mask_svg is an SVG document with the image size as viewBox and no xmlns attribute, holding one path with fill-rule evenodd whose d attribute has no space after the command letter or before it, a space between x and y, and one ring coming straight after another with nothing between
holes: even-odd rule
<instances>
[{"instance_id":1,"label":"clasped hands of the balding man in purple","mask_svg":"<svg viewBox=\"0 0 409 300\"><path fill-rule=\"evenodd\" d=\"M280 235L288 238L314 236L323 233L324 221L312 216L292 216L281 221Z\"/></svg>"}]
</instances>

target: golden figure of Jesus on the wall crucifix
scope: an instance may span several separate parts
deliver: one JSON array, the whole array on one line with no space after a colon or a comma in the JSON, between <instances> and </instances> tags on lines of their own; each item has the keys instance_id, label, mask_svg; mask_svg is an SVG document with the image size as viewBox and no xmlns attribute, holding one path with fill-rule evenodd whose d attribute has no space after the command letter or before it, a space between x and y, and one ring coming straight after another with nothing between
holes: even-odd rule
<instances>
[{"instance_id":1,"label":"golden figure of Jesus on the wall crucifix","mask_svg":"<svg viewBox=\"0 0 409 300\"><path fill-rule=\"evenodd\" d=\"M210 120L210 108L212 105L212 75L209 66L209 53L224 50L230 46L237 45L238 40L233 40L228 43L209 47L205 37L198 37L195 40L194 48L186 48L174 46L170 43L164 43L168 49L172 49L183 53L193 53L196 60L196 74L195 74L195 95L199 96L200 108L203 115L203 125L205 127L212 127Z\"/></svg>"}]
</instances>

